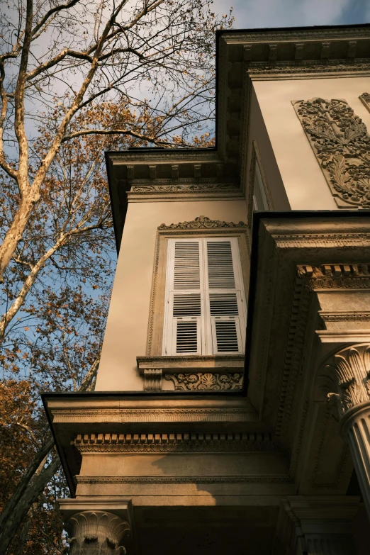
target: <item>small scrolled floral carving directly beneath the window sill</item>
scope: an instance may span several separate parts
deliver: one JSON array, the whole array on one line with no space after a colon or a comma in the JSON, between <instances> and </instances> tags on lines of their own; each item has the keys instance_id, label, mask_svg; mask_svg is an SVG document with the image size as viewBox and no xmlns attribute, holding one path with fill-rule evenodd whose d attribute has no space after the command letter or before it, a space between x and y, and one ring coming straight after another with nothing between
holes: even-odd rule
<instances>
[{"instance_id":1,"label":"small scrolled floral carving directly beneath the window sill","mask_svg":"<svg viewBox=\"0 0 370 555\"><path fill-rule=\"evenodd\" d=\"M166 374L165 379L173 381L175 391L201 390L240 390L243 384L243 374Z\"/></svg>"}]
</instances>

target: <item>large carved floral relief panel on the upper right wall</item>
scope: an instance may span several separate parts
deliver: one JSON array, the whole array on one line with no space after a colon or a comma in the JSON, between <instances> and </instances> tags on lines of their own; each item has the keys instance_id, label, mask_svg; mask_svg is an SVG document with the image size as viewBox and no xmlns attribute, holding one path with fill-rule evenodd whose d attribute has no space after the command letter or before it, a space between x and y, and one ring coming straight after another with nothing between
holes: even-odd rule
<instances>
[{"instance_id":1,"label":"large carved floral relief panel on the upper right wall","mask_svg":"<svg viewBox=\"0 0 370 555\"><path fill-rule=\"evenodd\" d=\"M340 208L370 208L370 135L345 100L293 101Z\"/></svg>"}]
</instances>

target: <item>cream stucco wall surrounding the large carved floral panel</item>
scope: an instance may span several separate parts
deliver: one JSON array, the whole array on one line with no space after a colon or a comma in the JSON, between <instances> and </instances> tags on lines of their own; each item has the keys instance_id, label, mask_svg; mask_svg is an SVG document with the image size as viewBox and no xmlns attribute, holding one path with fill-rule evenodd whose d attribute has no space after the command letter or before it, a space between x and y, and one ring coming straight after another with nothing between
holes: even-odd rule
<instances>
[{"instance_id":1,"label":"cream stucco wall surrounding the large carved floral panel","mask_svg":"<svg viewBox=\"0 0 370 555\"><path fill-rule=\"evenodd\" d=\"M368 77L297 79L253 83L292 210L336 210L337 204L315 158L292 100L344 99L370 130L370 113L359 95L370 91Z\"/></svg>"}]
</instances>

